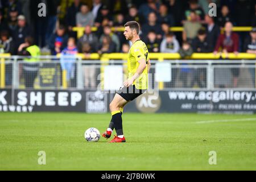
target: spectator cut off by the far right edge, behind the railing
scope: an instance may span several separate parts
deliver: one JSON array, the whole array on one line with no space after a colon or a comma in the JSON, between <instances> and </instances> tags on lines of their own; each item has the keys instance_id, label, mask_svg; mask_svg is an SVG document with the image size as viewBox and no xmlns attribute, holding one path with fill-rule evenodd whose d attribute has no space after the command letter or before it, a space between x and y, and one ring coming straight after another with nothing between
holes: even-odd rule
<instances>
[{"instance_id":1,"label":"spectator cut off by the far right edge, behind the railing","mask_svg":"<svg viewBox=\"0 0 256 182\"><path fill-rule=\"evenodd\" d=\"M256 55L256 27L250 32L250 37L245 40L243 51L247 53L254 53ZM255 68L249 68L253 85L255 87Z\"/></svg>"}]
</instances>

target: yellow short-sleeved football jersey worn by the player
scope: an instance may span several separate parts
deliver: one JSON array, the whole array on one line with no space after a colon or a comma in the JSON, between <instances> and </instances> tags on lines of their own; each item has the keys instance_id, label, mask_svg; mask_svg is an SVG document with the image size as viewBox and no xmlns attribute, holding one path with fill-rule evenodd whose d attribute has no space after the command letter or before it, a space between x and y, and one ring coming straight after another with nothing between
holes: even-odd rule
<instances>
[{"instance_id":1,"label":"yellow short-sleeved football jersey worn by the player","mask_svg":"<svg viewBox=\"0 0 256 182\"><path fill-rule=\"evenodd\" d=\"M133 43L128 53L127 68L128 78L132 77L136 73L139 67L139 60L144 59L148 61L148 49L146 44L142 40L137 40ZM137 89L147 89L147 66L144 69L141 76L139 76L133 83Z\"/></svg>"}]
</instances>

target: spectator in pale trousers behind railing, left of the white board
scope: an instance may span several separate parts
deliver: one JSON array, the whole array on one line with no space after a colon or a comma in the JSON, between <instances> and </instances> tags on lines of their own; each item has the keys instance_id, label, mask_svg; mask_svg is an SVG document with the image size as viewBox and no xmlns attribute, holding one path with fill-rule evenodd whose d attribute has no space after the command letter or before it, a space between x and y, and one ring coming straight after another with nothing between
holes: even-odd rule
<instances>
[{"instance_id":1,"label":"spectator in pale trousers behind railing, left of the white board","mask_svg":"<svg viewBox=\"0 0 256 182\"><path fill-rule=\"evenodd\" d=\"M90 59L90 53L92 52L92 47L89 43L84 43L82 45L82 53L85 55L85 59ZM84 87L85 88L96 88L96 67L93 64L85 64L84 69Z\"/></svg>"}]
</instances>

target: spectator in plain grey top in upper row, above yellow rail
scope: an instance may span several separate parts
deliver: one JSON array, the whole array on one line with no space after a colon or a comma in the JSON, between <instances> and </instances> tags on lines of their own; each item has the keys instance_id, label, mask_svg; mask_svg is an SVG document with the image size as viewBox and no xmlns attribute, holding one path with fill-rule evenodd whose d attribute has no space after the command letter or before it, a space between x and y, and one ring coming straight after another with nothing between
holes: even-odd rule
<instances>
[{"instance_id":1,"label":"spectator in plain grey top in upper row, above yellow rail","mask_svg":"<svg viewBox=\"0 0 256 182\"><path fill-rule=\"evenodd\" d=\"M82 4L80 7L80 12L76 14L76 26L77 27L85 27L85 26L93 26L94 17L93 14L90 13L89 7L86 4Z\"/></svg>"}]
</instances>

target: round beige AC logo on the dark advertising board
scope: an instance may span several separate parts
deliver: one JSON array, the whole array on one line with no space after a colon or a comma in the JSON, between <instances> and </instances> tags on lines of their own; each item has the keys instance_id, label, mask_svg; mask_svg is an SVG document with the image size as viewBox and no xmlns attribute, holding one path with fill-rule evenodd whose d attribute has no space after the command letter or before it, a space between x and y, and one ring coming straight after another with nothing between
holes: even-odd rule
<instances>
[{"instance_id":1,"label":"round beige AC logo on the dark advertising board","mask_svg":"<svg viewBox=\"0 0 256 182\"><path fill-rule=\"evenodd\" d=\"M142 96L138 97L136 100L137 109L143 113L155 113L159 110L160 105L160 96L155 94L142 94Z\"/></svg>"}]
</instances>

